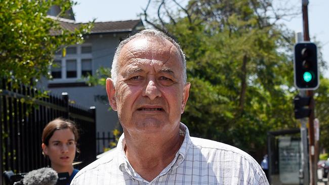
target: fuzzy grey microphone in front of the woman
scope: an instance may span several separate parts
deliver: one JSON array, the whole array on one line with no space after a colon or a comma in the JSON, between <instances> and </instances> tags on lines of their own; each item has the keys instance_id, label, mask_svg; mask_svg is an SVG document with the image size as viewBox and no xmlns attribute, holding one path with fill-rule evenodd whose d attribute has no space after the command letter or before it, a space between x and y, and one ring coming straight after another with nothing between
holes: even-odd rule
<instances>
[{"instance_id":1,"label":"fuzzy grey microphone in front of the woman","mask_svg":"<svg viewBox=\"0 0 329 185\"><path fill-rule=\"evenodd\" d=\"M53 168L39 168L32 170L23 178L24 185L55 185L57 183L58 175Z\"/></svg>"}]
</instances>

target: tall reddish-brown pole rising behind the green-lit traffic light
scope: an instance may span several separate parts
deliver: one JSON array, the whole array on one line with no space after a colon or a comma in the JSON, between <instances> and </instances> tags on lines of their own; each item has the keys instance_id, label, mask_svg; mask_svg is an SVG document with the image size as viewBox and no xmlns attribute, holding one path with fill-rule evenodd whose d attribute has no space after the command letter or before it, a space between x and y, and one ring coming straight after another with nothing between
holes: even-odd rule
<instances>
[{"instance_id":1,"label":"tall reddish-brown pole rising behind the green-lit traffic light","mask_svg":"<svg viewBox=\"0 0 329 185\"><path fill-rule=\"evenodd\" d=\"M308 0L302 0L302 12L303 12L303 31L304 40L309 41L310 36L308 32L308 12L307 12ZM309 136L309 165L310 165L310 184L315 185L317 181L316 173L316 161L315 161L315 147L314 147L314 99L313 90L307 90L306 95L310 97L309 109L311 109L311 114L308 118L308 136Z\"/></svg>"}]
</instances>

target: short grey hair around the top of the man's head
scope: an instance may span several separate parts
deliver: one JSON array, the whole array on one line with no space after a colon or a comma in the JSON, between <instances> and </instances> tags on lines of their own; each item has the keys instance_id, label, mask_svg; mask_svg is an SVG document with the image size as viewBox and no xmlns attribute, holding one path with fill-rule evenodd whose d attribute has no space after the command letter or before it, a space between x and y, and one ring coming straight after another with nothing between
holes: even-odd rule
<instances>
[{"instance_id":1,"label":"short grey hair around the top of the man's head","mask_svg":"<svg viewBox=\"0 0 329 185\"><path fill-rule=\"evenodd\" d=\"M118 73L118 58L121 52L121 49L124 48L124 45L126 43L128 43L130 40L137 38L137 37L155 37L155 38L160 38L160 39L166 39L168 41L170 41L171 43L173 43L175 45L175 47L177 48L177 50L179 51L179 54L181 56L182 59L182 63L183 63L183 82L184 84L186 83L187 80L187 75L186 75L186 59L185 59L185 54L182 51L182 48L180 47L180 45L171 37L167 36L165 33L155 30L155 29L144 29L128 38L126 38L125 40L122 40L118 47L116 48L114 57L113 57L113 62L112 62L112 68L111 68L111 78L113 80L114 85L116 85L116 79L117 79L117 73Z\"/></svg>"}]
</instances>

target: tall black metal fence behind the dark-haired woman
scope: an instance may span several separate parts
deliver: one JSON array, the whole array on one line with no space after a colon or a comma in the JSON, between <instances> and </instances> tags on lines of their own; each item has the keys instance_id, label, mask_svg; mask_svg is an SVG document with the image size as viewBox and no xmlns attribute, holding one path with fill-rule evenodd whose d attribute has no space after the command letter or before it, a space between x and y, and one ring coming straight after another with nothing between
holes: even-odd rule
<instances>
[{"instance_id":1,"label":"tall black metal fence behind the dark-haired woman","mask_svg":"<svg viewBox=\"0 0 329 185\"><path fill-rule=\"evenodd\" d=\"M69 103L68 95L48 95L40 98L35 88L20 85L13 88L11 83L0 80L0 174L5 170L24 173L33 169L50 166L42 155L41 136L45 125L51 120L63 117L73 120L80 133L76 155L82 168L96 159L96 117L95 107L77 108ZM0 180L0 185L2 184Z\"/></svg>"}]
</instances>

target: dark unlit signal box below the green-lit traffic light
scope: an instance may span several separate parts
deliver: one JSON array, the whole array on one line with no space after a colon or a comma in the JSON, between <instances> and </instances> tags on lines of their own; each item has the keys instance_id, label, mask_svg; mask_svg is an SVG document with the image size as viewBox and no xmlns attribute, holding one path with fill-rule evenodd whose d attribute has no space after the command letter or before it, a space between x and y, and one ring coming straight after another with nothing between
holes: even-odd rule
<instances>
[{"instance_id":1,"label":"dark unlit signal box below the green-lit traffic light","mask_svg":"<svg viewBox=\"0 0 329 185\"><path fill-rule=\"evenodd\" d=\"M309 106L311 101L310 97L300 97L296 96L294 98L294 105L295 105L295 118L296 119L301 119L308 117L311 114L311 109L309 109L306 106Z\"/></svg>"}]
</instances>

